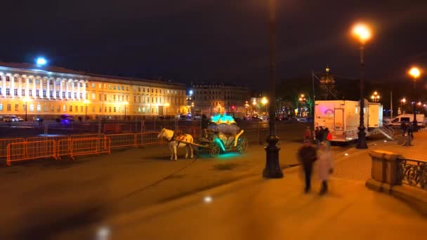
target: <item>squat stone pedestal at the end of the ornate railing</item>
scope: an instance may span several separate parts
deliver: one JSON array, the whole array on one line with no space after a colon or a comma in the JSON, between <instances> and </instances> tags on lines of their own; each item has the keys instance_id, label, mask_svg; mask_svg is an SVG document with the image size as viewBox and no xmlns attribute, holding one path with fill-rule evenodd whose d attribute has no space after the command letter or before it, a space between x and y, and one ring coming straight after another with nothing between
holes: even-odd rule
<instances>
[{"instance_id":1,"label":"squat stone pedestal at the end of the ornate railing","mask_svg":"<svg viewBox=\"0 0 427 240\"><path fill-rule=\"evenodd\" d=\"M400 185L400 172L397 159L402 157L400 154L375 150L369 152L372 157L371 177L373 180L386 183L390 186Z\"/></svg>"}]
</instances>

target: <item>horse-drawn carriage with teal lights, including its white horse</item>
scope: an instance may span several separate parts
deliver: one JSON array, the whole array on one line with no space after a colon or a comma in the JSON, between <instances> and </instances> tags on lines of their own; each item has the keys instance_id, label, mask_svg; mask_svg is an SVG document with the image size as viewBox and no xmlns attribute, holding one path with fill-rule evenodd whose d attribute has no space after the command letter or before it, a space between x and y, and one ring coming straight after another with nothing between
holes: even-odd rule
<instances>
[{"instance_id":1,"label":"horse-drawn carriage with teal lights, including its white horse","mask_svg":"<svg viewBox=\"0 0 427 240\"><path fill-rule=\"evenodd\" d=\"M162 129L158 137L169 141L171 160L177 159L177 147L186 147L185 158L193 157L193 149L196 150L197 155L199 152L207 151L212 157L218 156L221 151L237 151L242 154L248 149L248 140L244 131L240 130L235 120L227 115L214 116L206 132L196 140L189 134L176 135L174 131L166 128Z\"/></svg>"}]
</instances>

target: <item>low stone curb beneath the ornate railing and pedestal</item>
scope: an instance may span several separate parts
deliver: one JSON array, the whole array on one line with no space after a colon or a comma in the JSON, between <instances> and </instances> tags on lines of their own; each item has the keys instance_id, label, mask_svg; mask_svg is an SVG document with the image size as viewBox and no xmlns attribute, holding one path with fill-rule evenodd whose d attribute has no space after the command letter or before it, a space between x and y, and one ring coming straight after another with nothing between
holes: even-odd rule
<instances>
[{"instance_id":1,"label":"low stone curb beneath the ornate railing and pedestal","mask_svg":"<svg viewBox=\"0 0 427 240\"><path fill-rule=\"evenodd\" d=\"M369 179L365 186L376 192L383 192L400 199L411 208L419 211L421 215L427 217L427 191L411 187L409 185L389 185L385 182Z\"/></svg>"}]
</instances>

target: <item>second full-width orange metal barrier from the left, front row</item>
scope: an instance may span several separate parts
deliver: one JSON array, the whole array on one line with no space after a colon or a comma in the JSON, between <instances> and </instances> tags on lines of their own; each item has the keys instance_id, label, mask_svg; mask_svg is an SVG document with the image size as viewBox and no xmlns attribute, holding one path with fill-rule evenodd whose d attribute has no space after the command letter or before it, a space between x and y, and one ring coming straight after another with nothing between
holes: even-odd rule
<instances>
[{"instance_id":1,"label":"second full-width orange metal barrier from the left, front row","mask_svg":"<svg viewBox=\"0 0 427 240\"><path fill-rule=\"evenodd\" d=\"M111 153L110 138L77 138L70 140L70 157Z\"/></svg>"}]
</instances>

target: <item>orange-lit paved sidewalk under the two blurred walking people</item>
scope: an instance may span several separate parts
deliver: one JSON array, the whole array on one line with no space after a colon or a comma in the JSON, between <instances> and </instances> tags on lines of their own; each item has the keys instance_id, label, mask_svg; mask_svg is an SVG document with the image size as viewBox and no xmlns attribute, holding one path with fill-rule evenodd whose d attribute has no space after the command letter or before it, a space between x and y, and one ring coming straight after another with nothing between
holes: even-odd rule
<instances>
[{"instance_id":1,"label":"orange-lit paved sidewalk under the two blurred walking people","mask_svg":"<svg viewBox=\"0 0 427 240\"><path fill-rule=\"evenodd\" d=\"M326 196L317 194L316 173L313 192L303 194L301 170L289 168L282 179L246 178L115 216L102 226L110 229L112 239L419 239L426 236L427 218L392 196L367 189L364 180L369 178L370 150L423 157L426 140L423 131L416 133L412 147L376 142L369 149L349 149L348 156L338 154ZM95 236L97 230L63 237Z\"/></svg>"}]
</instances>

